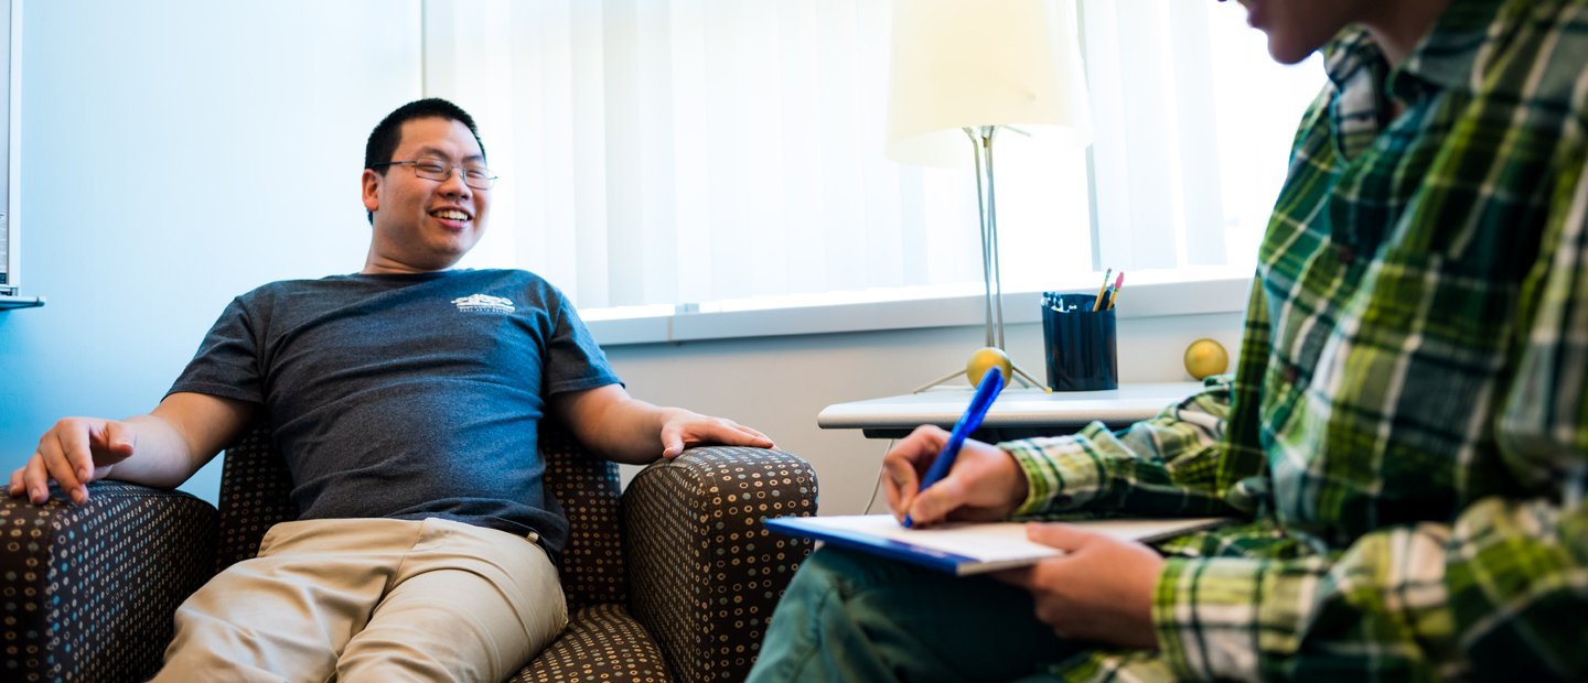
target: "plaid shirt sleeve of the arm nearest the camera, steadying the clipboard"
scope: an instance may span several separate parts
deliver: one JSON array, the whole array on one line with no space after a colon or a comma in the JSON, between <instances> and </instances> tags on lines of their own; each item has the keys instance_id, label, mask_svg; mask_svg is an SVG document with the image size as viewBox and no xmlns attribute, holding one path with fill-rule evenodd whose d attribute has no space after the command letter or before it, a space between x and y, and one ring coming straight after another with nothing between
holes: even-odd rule
<instances>
[{"instance_id":1,"label":"plaid shirt sleeve of the arm nearest the camera, steadying the clipboard","mask_svg":"<svg viewBox=\"0 0 1588 683\"><path fill-rule=\"evenodd\" d=\"M1588 680L1588 173L1567 152L1494 434L1553 496L1482 498L1451 523L1377 529L1309 558L1177 558L1153 618L1178 678ZM1572 166L1574 165L1574 166Z\"/></svg>"}]
</instances>

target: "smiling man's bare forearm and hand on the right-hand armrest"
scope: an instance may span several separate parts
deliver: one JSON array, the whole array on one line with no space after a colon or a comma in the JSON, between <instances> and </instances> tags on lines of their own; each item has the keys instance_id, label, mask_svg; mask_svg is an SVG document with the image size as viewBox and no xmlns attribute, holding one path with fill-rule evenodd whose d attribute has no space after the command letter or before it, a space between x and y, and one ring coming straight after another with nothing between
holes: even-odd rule
<instances>
[{"instance_id":1,"label":"smiling man's bare forearm and hand on the right-hand armrest","mask_svg":"<svg viewBox=\"0 0 1588 683\"><path fill-rule=\"evenodd\" d=\"M756 429L681 407L653 406L615 383L559 393L551 398L551 410L581 444L627 464L676 458L699 444L773 447L772 439Z\"/></svg>"}]
</instances>

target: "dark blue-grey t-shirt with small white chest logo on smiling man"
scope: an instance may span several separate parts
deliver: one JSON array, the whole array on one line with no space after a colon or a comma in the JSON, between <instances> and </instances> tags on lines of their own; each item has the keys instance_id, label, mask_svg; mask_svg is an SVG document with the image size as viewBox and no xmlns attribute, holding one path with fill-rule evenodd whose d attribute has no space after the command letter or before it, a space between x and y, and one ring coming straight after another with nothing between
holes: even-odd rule
<instances>
[{"instance_id":1,"label":"dark blue-grey t-shirt with small white chest logo on smiling man","mask_svg":"<svg viewBox=\"0 0 1588 683\"><path fill-rule=\"evenodd\" d=\"M443 517L553 553L546 398L618 383L557 288L526 271L333 276L227 306L172 387L264 406L302 520Z\"/></svg>"}]
</instances>

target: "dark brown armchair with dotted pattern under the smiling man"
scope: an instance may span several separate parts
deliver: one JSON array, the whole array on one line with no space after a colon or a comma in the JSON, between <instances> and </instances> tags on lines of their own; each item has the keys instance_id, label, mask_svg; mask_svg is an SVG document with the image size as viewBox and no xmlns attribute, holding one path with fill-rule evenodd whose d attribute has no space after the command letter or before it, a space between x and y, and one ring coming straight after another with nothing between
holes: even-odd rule
<instances>
[{"instance_id":1,"label":"dark brown armchair with dotted pattern under the smiling man","mask_svg":"<svg viewBox=\"0 0 1588 683\"><path fill-rule=\"evenodd\" d=\"M691 448L619 493L618 467L543 425L546 480L572 523L569 628L511 681L742 680L810 544L762 517L816 512L794 455ZM227 448L219 513L118 482L91 501L0 501L0 680L122 681L159 669L176 605L295 517L270 433Z\"/></svg>"}]
</instances>

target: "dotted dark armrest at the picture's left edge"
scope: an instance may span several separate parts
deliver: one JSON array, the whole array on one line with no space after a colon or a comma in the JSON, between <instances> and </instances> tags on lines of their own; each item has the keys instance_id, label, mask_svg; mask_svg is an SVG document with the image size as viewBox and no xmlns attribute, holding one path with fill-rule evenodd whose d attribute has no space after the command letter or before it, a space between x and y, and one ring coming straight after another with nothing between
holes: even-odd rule
<instances>
[{"instance_id":1,"label":"dotted dark armrest at the picture's left edge","mask_svg":"<svg viewBox=\"0 0 1588 683\"><path fill-rule=\"evenodd\" d=\"M0 496L0 678L146 680L214 572L214 507L121 482L91 483L84 506L51 493Z\"/></svg>"}]
</instances>

